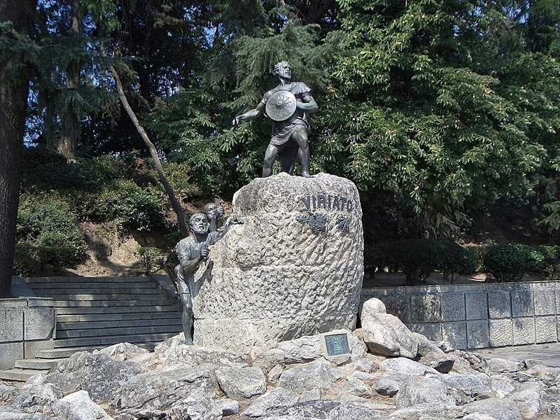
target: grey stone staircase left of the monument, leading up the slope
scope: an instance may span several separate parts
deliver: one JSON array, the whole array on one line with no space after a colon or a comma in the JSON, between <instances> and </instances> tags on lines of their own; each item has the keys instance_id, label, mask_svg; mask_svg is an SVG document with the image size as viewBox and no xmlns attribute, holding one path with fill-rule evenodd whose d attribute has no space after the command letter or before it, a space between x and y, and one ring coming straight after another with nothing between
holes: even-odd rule
<instances>
[{"instance_id":1,"label":"grey stone staircase left of the monument, leading up the slope","mask_svg":"<svg viewBox=\"0 0 560 420\"><path fill-rule=\"evenodd\" d=\"M181 303L167 276L41 277L25 281L35 295L53 299L57 311L55 348L35 351L35 358L16 360L14 369L0 371L0 379L26 381L77 351L120 342L153 350L155 344L183 330Z\"/></svg>"}]
</instances>

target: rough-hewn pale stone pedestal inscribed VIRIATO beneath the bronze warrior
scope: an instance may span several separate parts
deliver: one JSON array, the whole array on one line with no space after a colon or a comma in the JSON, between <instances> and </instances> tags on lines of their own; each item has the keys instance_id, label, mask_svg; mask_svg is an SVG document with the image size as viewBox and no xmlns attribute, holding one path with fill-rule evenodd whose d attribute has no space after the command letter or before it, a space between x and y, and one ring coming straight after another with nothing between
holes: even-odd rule
<instances>
[{"instance_id":1,"label":"rough-hewn pale stone pedestal inscribed VIRIATO beneath the bronze warrior","mask_svg":"<svg viewBox=\"0 0 560 420\"><path fill-rule=\"evenodd\" d=\"M351 181L282 173L237 191L244 220L210 248L193 296L195 344L251 346L353 330L363 279L362 210Z\"/></svg>"}]
</instances>

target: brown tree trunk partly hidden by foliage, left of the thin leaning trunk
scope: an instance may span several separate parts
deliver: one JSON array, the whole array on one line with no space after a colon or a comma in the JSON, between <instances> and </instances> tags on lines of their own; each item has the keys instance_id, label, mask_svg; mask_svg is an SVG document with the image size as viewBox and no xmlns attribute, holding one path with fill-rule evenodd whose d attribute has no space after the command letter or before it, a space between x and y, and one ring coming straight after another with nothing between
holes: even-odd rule
<instances>
[{"instance_id":1,"label":"brown tree trunk partly hidden by foliage, left of the thin leaning trunk","mask_svg":"<svg viewBox=\"0 0 560 420\"><path fill-rule=\"evenodd\" d=\"M71 38L79 38L83 33L83 15L80 8L80 0L71 0L70 8L70 30L68 36ZM80 63L71 62L66 67L66 87L69 90L76 90L80 87ZM60 137L57 144L57 152L63 155L67 160L76 159L76 143L80 137L80 120L78 119L80 106L77 102L72 101L62 113Z\"/></svg>"}]
</instances>

